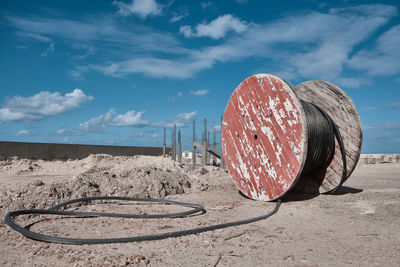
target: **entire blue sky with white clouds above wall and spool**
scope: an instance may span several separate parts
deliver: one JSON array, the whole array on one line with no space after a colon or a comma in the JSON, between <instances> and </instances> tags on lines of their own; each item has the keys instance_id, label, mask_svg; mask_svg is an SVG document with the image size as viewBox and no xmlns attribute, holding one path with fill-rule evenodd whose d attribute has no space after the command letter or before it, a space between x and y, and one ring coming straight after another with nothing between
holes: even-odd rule
<instances>
[{"instance_id":1,"label":"entire blue sky with white clouds above wall and spool","mask_svg":"<svg viewBox=\"0 0 400 267\"><path fill-rule=\"evenodd\" d=\"M363 153L400 153L398 1L0 2L0 139L161 146L217 127L237 85L272 73L353 99ZM168 130L168 143L170 131Z\"/></svg>"}]
</instances>

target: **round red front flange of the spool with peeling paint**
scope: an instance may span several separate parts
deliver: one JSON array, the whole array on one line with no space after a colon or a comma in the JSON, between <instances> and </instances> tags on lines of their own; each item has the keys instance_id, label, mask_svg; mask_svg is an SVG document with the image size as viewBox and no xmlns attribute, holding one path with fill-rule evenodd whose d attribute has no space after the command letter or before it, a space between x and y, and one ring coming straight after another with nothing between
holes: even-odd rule
<instances>
[{"instance_id":1,"label":"round red front flange of the spool with peeling paint","mask_svg":"<svg viewBox=\"0 0 400 267\"><path fill-rule=\"evenodd\" d=\"M222 125L222 152L236 186L256 200L274 200L295 184L307 155L299 98L282 79L257 74L233 92Z\"/></svg>"}]
</instances>

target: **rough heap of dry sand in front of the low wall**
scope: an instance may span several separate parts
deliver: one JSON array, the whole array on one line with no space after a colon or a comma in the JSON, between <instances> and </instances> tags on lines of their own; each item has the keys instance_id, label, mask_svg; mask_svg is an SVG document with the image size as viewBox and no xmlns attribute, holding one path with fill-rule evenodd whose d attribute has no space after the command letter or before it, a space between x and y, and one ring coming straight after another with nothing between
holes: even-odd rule
<instances>
[{"instance_id":1,"label":"rough heap of dry sand in front of the low wall","mask_svg":"<svg viewBox=\"0 0 400 267\"><path fill-rule=\"evenodd\" d=\"M62 161L58 163L62 164ZM80 161L64 162L64 165L68 164L80 167L82 171L63 181L35 180L15 191L1 191L1 218L10 210L47 209L63 201L88 196L164 198L188 192L193 182L181 166L162 157L98 154ZM46 161L14 158L2 161L0 170L21 174L34 172L44 165Z\"/></svg>"}]
</instances>

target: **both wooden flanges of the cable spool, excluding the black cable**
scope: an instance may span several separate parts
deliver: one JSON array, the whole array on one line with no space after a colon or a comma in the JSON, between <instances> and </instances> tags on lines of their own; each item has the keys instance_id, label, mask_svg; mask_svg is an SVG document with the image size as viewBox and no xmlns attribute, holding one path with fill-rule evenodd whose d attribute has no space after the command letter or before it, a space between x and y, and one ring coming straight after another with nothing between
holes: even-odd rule
<instances>
[{"instance_id":1,"label":"both wooden flanges of the cable spool, excluding the black cable","mask_svg":"<svg viewBox=\"0 0 400 267\"><path fill-rule=\"evenodd\" d=\"M294 186L311 193L326 193L340 186L343 161L337 140L329 166L302 175L308 135L300 99L331 116L343 138L347 178L354 170L361 152L361 121L343 90L325 81L291 88L274 75L257 74L233 92L222 124L225 163L246 196L270 201Z\"/></svg>"}]
</instances>

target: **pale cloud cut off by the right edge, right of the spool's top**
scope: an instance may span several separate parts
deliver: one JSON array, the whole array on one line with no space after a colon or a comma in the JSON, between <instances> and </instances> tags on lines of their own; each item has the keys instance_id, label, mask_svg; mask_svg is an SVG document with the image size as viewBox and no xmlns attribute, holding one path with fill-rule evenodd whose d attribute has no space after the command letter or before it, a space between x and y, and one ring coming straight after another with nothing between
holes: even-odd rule
<instances>
[{"instance_id":1,"label":"pale cloud cut off by the right edge, right of the spool's top","mask_svg":"<svg viewBox=\"0 0 400 267\"><path fill-rule=\"evenodd\" d=\"M388 76L400 73L400 25L383 33L372 50L362 50L353 56L350 67L371 75Z\"/></svg>"}]
</instances>

